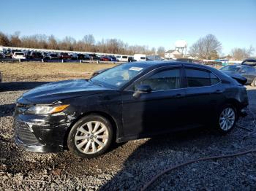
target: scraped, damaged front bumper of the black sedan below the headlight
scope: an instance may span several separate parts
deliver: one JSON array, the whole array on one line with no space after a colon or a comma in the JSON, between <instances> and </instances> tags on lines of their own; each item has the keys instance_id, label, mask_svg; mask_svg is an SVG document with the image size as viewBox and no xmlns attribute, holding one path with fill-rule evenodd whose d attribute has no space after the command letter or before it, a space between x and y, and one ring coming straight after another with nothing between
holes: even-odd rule
<instances>
[{"instance_id":1,"label":"scraped, damaged front bumper of the black sedan below the headlight","mask_svg":"<svg viewBox=\"0 0 256 191\"><path fill-rule=\"evenodd\" d=\"M71 122L64 113L15 114L15 142L30 152L63 152Z\"/></svg>"}]
</instances>

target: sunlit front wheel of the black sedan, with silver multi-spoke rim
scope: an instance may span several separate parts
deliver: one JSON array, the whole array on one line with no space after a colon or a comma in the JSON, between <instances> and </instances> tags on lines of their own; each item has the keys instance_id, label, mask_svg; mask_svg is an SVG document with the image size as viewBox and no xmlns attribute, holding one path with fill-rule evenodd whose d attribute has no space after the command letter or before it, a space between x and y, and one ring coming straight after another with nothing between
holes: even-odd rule
<instances>
[{"instance_id":1,"label":"sunlit front wheel of the black sedan, with silver multi-spoke rim","mask_svg":"<svg viewBox=\"0 0 256 191\"><path fill-rule=\"evenodd\" d=\"M91 158L107 152L112 141L113 127L110 121L90 114L73 125L67 137L67 146L75 156Z\"/></svg>"}]
</instances>

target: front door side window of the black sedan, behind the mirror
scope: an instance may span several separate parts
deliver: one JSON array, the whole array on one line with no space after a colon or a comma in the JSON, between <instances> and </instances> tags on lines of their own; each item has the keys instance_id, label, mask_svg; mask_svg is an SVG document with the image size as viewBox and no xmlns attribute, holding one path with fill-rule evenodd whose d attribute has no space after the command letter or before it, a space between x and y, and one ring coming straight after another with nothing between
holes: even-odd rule
<instances>
[{"instance_id":1,"label":"front door side window of the black sedan, behind the mirror","mask_svg":"<svg viewBox=\"0 0 256 191\"><path fill-rule=\"evenodd\" d=\"M157 74L153 74L151 77L144 79L135 85L135 89L138 85L150 85L152 91L159 90L172 90L180 87L180 70L170 69L165 71L159 71Z\"/></svg>"}]
</instances>

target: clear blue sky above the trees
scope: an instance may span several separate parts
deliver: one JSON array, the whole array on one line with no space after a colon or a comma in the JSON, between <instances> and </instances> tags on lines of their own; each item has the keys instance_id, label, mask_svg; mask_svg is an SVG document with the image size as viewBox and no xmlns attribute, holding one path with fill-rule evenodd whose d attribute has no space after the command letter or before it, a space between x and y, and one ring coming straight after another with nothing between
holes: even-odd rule
<instances>
[{"instance_id":1,"label":"clear blue sky above the trees","mask_svg":"<svg viewBox=\"0 0 256 191\"><path fill-rule=\"evenodd\" d=\"M77 40L93 34L97 41L115 38L166 50L173 49L176 40L186 40L189 47L214 34L222 42L223 54L233 47L252 45L256 50L256 0L0 0L0 4L4 4L0 31L7 34L20 31L20 36L53 34Z\"/></svg>"}]
</instances>

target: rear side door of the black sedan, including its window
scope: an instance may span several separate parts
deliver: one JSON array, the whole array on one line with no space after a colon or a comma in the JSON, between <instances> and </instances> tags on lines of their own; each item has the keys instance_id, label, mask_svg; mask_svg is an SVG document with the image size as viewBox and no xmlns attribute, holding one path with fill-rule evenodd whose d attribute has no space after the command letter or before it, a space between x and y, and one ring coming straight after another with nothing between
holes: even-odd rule
<instances>
[{"instance_id":1,"label":"rear side door of the black sedan, including its window","mask_svg":"<svg viewBox=\"0 0 256 191\"><path fill-rule=\"evenodd\" d=\"M187 66L185 73L184 120L188 127L205 125L217 114L217 108L224 100L224 88L220 79L206 69Z\"/></svg>"}]
</instances>

